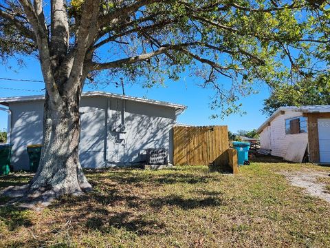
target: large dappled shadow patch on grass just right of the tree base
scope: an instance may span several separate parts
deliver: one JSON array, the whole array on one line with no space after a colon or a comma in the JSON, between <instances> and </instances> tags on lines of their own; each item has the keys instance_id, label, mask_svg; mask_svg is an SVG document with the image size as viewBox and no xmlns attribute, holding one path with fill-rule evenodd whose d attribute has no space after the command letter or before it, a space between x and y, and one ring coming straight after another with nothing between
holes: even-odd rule
<instances>
[{"instance_id":1,"label":"large dappled shadow patch on grass just right of the tree base","mask_svg":"<svg viewBox=\"0 0 330 248\"><path fill-rule=\"evenodd\" d=\"M151 220L142 210L145 202L138 196L121 194L99 195L94 192L74 199L61 198L50 209L63 209L64 219L78 220L89 230L98 230L108 234L113 229L124 229L142 236L156 234L166 226L159 220ZM80 206L70 211L74 206ZM109 210L109 207L113 210Z\"/></svg>"}]
</instances>

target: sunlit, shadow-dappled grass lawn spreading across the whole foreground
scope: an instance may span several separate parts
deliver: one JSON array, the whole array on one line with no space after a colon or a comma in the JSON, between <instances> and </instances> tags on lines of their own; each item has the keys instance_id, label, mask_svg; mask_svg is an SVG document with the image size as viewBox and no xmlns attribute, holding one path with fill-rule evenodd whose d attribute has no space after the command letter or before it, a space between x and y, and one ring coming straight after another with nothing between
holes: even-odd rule
<instances>
[{"instance_id":1,"label":"sunlit, shadow-dappled grass lawn spreading across the whole foreground","mask_svg":"<svg viewBox=\"0 0 330 248\"><path fill-rule=\"evenodd\" d=\"M330 167L252 163L89 172L95 192L41 211L0 208L0 247L330 247L330 204L278 172ZM0 188L31 175L0 177ZM1 198L3 202L7 199Z\"/></svg>"}]
</instances>

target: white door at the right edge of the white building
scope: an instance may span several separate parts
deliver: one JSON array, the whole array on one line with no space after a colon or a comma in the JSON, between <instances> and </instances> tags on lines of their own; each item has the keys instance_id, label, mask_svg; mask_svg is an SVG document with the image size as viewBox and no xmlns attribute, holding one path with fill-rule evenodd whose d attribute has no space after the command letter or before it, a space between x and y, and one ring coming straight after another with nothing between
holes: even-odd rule
<instances>
[{"instance_id":1,"label":"white door at the right edge of the white building","mask_svg":"<svg viewBox=\"0 0 330 248\"><path fill-rule=\"evenodd\" d=\"M318 119L320 163L330 163L330 118Z\"/></svg>"}]
</instances>

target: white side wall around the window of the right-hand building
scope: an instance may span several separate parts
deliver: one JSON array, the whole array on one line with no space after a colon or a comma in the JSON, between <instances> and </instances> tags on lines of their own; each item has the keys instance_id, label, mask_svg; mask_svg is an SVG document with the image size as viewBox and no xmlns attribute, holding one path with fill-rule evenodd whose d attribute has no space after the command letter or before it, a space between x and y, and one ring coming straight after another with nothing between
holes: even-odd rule
<instances>
[{"instance_id":1,"label":"white side wall around the window of the right-hand building","mask_svg":"<svg viewBox=\"0 0 330 248\"><path fill-rule=\"evenodd\" d=\"M265 127L260 134L261 148L272 149L273 156L284 157L291 142L308 142L307 133L285 134L285 119L302 116L301 112L285 111L274 118L270 126Z\"/></svg>"}]
</instances>

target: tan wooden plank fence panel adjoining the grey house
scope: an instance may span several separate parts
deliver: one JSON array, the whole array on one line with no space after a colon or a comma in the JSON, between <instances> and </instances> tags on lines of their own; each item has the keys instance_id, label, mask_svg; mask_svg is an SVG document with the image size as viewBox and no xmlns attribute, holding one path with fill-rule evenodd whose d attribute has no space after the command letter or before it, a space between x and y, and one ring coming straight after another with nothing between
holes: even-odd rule
<instances>
[{"instance_id":1,"label":"tan wooden plank fence panel adjoining the grey house","mask_svg":"<svg viewBox=\"0 0 330 248\"><path fill-rule=\"evenodd\" d=\"M174 164L209 165L224 161L229 148L227 126L173 128ZM223 157L223 158L222 158Z\"/></svg>"}]
</instances>

